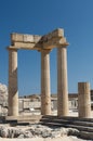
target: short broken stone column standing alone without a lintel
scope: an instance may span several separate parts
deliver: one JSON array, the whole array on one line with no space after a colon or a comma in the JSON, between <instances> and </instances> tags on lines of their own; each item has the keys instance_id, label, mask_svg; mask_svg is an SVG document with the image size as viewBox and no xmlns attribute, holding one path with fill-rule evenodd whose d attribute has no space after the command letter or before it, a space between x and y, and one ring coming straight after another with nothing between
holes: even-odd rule
<instances>
[{"instance_id":1,"label":"short broken stone column standing alone without a lintel","mask_svg":"<svg viewBox=\"0 0 93 141\"><path fill-rule=\"evenodd\" d=\"M91 117L91 97L89 82L78 82L78 112L79 117Z\"/></svg>"}]
</instances>

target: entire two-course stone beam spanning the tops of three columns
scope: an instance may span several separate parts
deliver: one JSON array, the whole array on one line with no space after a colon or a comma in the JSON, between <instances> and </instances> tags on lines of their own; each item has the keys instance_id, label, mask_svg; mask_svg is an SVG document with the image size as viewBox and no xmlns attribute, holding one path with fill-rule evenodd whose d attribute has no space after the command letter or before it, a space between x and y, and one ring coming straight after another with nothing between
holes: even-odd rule
<instances>
[{"instance_id":1,"label":"entire two-course stone beam spanning the tops of three columns","mask_svg":"<svg viewBox=\"0 0 93 141\"><path fill-rule=\"evenodd\" d=\"M55 47L68 46L64 29L55 29L44 36L11 34L11 49L51 50Z\"/></svg>"}]
</instances>

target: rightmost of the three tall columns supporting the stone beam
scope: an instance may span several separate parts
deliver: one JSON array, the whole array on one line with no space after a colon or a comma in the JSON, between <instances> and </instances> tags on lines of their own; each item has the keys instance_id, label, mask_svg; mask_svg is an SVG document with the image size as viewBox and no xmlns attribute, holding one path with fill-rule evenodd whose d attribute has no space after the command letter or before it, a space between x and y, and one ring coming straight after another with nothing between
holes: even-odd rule
<instances>
[{"instance_id":1,"label":"rightmost of the three tall columns supporting the stone beam","mask_svg":"<svg viewBox=\"0 0 93 141\"><path fill-rule=\"evenodd\" d=\"M67 49L57 48L57 115L68 115Z\"/></svg>"}]
</instances>

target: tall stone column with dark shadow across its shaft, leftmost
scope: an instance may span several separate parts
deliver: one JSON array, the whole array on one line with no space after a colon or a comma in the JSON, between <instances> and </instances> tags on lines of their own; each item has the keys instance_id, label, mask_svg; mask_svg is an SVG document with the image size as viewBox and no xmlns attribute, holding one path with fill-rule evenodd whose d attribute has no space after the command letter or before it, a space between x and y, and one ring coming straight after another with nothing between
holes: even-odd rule
<instances>
[{"instance_id":1,"label":"tall stone column with dark shadow across its shaft, leftmost","mask_svg":"<svg viewBox=\"0 0 93 141\"><path fill-rule=\"evenodd\" d=\"M18 115L17 50L9 49L9 116Z\"/></svg>"}]
</instances>

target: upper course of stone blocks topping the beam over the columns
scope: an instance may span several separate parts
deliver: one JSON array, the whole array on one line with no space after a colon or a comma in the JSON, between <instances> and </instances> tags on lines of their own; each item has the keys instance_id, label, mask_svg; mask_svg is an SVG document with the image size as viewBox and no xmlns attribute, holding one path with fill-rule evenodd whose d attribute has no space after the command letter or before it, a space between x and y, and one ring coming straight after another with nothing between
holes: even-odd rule
<instances>
[{"instance_id":1,"label":"upper course of stone blocks topping the beam over the columns","mask_svg":"<svg viewBox=\"0 0 93 141\"><path fill-rule=\"evenodd\" d=\"M39 35L25 35L25 34L16 34L13 33L11 34L11 40L12 42L34 42L37 43L39 41L46 41L52 38L62 38L64 37L64 29L55 29L52 33L49 33L44 36L39 36Z\"/></svg>"}]
</instances>

